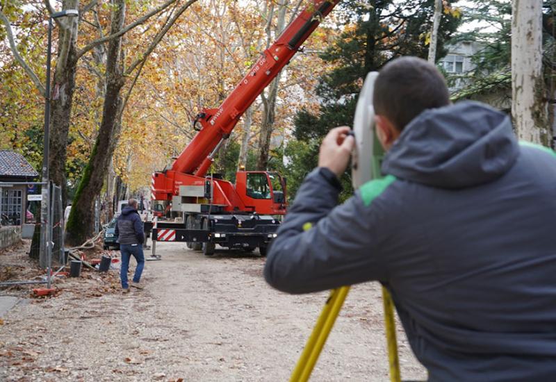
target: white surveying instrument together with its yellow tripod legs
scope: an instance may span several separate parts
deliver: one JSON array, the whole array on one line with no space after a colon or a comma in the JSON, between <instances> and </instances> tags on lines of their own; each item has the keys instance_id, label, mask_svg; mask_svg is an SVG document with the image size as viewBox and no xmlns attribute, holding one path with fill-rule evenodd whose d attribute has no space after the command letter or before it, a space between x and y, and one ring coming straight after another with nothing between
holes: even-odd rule
<instances>
[{"instance_id":1,"label":"white surveying instrument together with its yellow tripod legs","mask_svg":"<svg viewBox=\"0 0 556 382\"><path fill-rule=\"evenodd\" d=\"M355 189L380 177L380 163L384 151L378 142L375 133L375 109L373 108L373 91L377 72L367 74L363 88L359 92L357 108L353 121L355 148L352 154L352 183ZM303 227L311 229L311 224ZM349 286L336 288L330 295L322 309L316 325L307 340L300 359L295 365L290 382L306 382L311 376L318 356L324 347L332 326L350 291ZM395 335L394 309L390 293L382 286L382 300L384 302L384 322L386 325L386 343L388 345L388 358L391 382L400 382L400 362L398 359L398 343Z\"/></svg>"}]
</instances>

